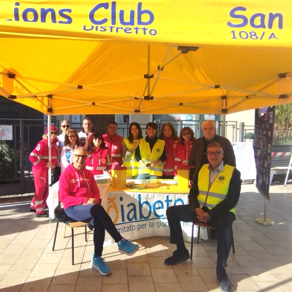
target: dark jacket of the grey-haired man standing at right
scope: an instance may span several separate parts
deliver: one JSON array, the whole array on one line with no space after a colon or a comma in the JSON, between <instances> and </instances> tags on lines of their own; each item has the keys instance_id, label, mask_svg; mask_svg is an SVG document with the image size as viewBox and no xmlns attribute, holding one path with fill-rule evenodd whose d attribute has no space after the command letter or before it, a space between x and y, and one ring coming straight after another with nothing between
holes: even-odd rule
<instances>
[{"instance_id":1,"label":"dark jacket of the grey-haired man standing at right","mask_svg":"<svg viewBox=\"0 0 292 292\"><path fill-rule=\"evenodd\" d=\"M188 165L195 165L195 168L191 168L190 170L190 180L197 177L199 174L199 170L202 166L202 156L204 152L204 140L205 137L201 137L194 141L192 151L189 157ZM223 162L224 164L229 164L231 166L236 166L235 155L233 151L233 147L230 141L227 138L216 135L212 141L215 141L222 145L224 156Z\"/></svg>"}]
</instances>

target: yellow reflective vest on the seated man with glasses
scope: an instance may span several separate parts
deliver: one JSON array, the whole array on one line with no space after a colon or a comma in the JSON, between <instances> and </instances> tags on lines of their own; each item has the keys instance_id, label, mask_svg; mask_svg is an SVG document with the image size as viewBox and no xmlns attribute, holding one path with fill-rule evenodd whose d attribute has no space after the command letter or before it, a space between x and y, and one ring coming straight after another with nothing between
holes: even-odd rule
<instances>
[{"instance_id":1,"label":"yellow reflective vest on the seated man with glasses","mask_svg":"<svg viewBox=\"0 0 292 292\"><path fill-rule=\"evenodd\" d=\"M209 185L210 181L210 170L208 169L209 164L204 164L201 167L198 177L199 195L198 201L200 208L206 205L209 210L218 205L221 201L226 199L230 180L232 178L234 166L225 164L223 171L220 171L214 182ZM229 210L235 214L235 208Z\"/></svg>"}]
</instances>

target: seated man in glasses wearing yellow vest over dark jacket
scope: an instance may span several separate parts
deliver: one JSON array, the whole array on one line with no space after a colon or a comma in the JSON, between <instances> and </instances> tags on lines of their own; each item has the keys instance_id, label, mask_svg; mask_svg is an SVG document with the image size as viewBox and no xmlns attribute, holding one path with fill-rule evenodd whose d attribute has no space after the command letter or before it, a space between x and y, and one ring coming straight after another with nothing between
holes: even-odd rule
<instances>
[{"instance_id":1,"label":"seated man in glasses wearing yellow vest over dark jacket","mask_svg":"<svg viewBox=\"0 0 292 292\"><path fill-rule=\"evenodd\" d=\"M176 265L190 258L183 241L181 221L206 222L218 233L216 273L219 288L229 292L231 284L225 267L232 246L232 223L241 188L240 172L234 166L223 163L224 151L219 143L210 143L206 152L209 164L204 164L195 177L189 204L171 206L166 210L170 243L176 244L177 250L164 263Z\"/></svg>"}]
</instances>

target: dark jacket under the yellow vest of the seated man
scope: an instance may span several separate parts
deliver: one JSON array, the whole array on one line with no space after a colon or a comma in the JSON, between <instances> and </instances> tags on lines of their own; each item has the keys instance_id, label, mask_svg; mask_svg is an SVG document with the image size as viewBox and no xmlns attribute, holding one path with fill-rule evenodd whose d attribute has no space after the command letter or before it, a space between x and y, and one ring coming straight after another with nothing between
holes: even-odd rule
<instances>
[{"instance_id":1,"label":"dark jacket under the yellow vest of the seated man","mask_svg":"<svg viewBox=\"0 0 292 292\"><path fill-rule=\"evenodd\" d=\"M216 217L219 214L223 212L228 212L237 205L240 195L240 189L241 189L240 171L235 168L230 180L227 198L221 201L216 207L208 211L208 214L211 217L211 219L216 219ZM200 208L198 195L199 195L198 176L196 176L188 196L191 210Z\"/></svg>"}]
</instances>

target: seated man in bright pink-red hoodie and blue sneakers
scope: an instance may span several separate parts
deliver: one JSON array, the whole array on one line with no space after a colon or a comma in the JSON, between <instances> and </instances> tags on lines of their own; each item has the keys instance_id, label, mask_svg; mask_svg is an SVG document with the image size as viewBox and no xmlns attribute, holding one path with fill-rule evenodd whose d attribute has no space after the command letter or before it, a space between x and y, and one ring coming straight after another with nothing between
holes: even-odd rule
<instances>
[{"instance_id":1,"label":"seated man in bright pink-red hoodie and blue sneakers","mask_svg":"<svg viewBox=\"0 0 292 292\"><path fill-rule=\"evenodd\" d=\"M61 173L59 194L67 216L93 225L94 254L91 268L96 269L101 275L107 275L111 270L101 257L105 231L117 242L121 254L134 255L139 245L129 242L120 235L108 213L99 204L100 195L94 176L85 168L87 156L85 148L74 149L73 163Z\"/></svg>"}]
</instances>

